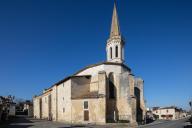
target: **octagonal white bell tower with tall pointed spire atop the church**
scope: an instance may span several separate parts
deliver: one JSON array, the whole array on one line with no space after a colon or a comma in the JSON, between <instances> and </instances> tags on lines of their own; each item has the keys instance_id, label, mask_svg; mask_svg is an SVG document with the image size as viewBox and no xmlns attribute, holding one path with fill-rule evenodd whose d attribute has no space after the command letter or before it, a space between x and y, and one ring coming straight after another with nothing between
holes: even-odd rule
<instances>
[{"instance_id":1,"label":"octagonal white bell tower with tall pointed spire atop the church","mask_svg":"<svg viewBox=\"0 0 192 128\"><path fill-rule=\"evenodd\" d=\"M106 52L107 62L123 63L124 62L124 40L121 36L116 2L114 3L111 32L107 40Z\"/></svg>"}]
</instances>

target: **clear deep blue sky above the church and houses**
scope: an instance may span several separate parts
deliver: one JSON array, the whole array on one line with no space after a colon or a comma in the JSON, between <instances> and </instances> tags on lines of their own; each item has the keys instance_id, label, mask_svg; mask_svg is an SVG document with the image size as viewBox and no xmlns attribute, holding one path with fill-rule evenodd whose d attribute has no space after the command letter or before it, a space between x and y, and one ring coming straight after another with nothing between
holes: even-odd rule
<instances>
[{"instance_id":1,"label":"clear deep blue sky above the church and houses","mask_svg":"<svg viewBox=\"0 0 192 128\"><path fill-rule=\"evenodd\" d=\"M192 1L117 0L126 64L145 80L147 105L192 99ZM105 61L113 0L1 0L0 95L31 99Z\"/></svg>"}]
</instances>

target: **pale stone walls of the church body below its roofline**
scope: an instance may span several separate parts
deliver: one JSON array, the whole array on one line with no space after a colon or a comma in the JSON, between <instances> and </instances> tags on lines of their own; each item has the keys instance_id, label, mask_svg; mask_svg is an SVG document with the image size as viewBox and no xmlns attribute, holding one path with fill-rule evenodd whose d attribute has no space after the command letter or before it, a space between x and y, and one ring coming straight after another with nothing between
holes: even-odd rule
<instances>
[{"instance_id":1,"label":"pale stone walls of the church body below its roofline","mask_svg":"<svg viewBox=\"0 0 192 128\"><path fill-rule=\"evenodd\" d=\"M109 100L108 94L109 74L113 74L115 86L116 96L113 100ZM96 66L35 97L34 116L67 123L106 123L107 113L111 113L115 121L126 120L135 123L137 101L134 87L134 76L122 66ZM143 96L143 84L138 87ZM88 101L89 121L84 121L84 101ZM141 104L144 104L144 100L141 100Z\"/></svg>"}]
</instances>

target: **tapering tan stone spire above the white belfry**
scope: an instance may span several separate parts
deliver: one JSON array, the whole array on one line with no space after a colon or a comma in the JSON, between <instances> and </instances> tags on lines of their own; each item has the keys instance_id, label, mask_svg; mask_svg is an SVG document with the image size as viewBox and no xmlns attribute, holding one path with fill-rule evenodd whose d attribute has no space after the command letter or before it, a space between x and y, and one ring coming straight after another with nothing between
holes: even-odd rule
<instances>
[{"instance_id":1,"label":"tapering tan stone spire above the white belfry","mask_svg":"<svg viewBox=\"0 0 192 128\"><path fill-rule=\"evenodd\" d=\"M112 23L111 23L111 33L110 38L113 36L120 36L120 26L119 26L119 20L118 20L118 14L117 14L117 8L116 8L116 1L114 3L113 8L113 17L112 17Z\"/></svg>"}]
</instances>

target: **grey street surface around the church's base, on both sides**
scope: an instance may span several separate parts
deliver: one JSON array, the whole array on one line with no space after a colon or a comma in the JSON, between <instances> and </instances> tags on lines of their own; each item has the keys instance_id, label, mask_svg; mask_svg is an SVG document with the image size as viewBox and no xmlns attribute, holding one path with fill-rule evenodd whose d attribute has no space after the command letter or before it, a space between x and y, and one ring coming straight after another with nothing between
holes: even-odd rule
<instances>
[{"instance_id":1,"label":"grey street surface around the church's base, on both sides","mask_svg":"<svg viewBox=\"0 0 192 128\"><path fill-rule=\"evenodd\" d=\"M183 128L187 119L176 121L156 121L151 124L142 125L138 128ZM11 122L0 124L0 128L127 128L127 124L107 124L107 125L70 125L46 120L37 120L27 117L16 117Z\"/></svg>"}]
</instances>

